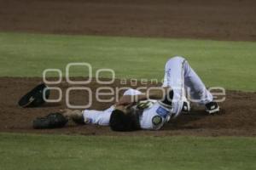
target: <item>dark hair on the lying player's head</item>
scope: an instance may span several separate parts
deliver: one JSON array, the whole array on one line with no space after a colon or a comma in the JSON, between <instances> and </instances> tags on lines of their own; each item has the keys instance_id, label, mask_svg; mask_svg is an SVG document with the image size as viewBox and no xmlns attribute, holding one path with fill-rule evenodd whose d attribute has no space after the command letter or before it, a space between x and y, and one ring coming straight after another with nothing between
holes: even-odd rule
<instances>
[{"instance_id":1,"label":"dark hair on the lying player's head","mask_svg":"<svg viewBox=\"0 0 256 170\"><path fill-rule=\"evenodd\" d=\"M136 114L125 114L114 110L110 116L109 126L113 131L135 131L140 129L139 118Z\"/></svg>"}]
</instances>

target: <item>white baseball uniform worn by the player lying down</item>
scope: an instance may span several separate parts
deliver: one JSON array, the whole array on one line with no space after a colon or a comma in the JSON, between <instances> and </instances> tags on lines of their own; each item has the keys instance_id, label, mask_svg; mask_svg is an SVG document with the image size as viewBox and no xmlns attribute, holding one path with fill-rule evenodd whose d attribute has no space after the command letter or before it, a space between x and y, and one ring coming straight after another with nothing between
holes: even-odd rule
<instances>
[{"instance_id":1,"label":"white baseball uniform worn by the player lying down","mask_svg":"<svg viewBox=\"0 0 256 170\"><path fill-rule=\"evenodd\" d=\"M187 100L185 96L188 89L188 95L192 99L196 99L197 103L205 105L212 101L212 94L183 57L173 57L166 62L163 87L173 89L172 107L162 105L157 100L149 100L148 108L145 108L139 116L142 129L158 130L171 118L177 117L182 112L183 101ZM129 89L125 91L124 95L137 94L141 94L141 92ZM83 111L84 121L85 123L108 126L113 110L113 105L105 111L85 110Z\"/></svg>"}]
</instances>

